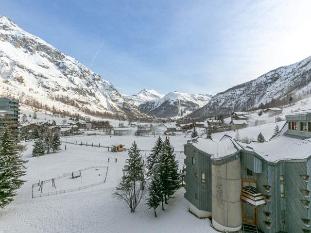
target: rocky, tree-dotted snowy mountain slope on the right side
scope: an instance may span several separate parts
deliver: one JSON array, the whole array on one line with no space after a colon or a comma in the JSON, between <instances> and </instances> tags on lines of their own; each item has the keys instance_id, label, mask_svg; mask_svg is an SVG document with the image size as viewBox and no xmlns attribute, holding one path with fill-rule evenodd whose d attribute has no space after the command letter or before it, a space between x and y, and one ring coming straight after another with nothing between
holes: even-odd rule
<instances>
[{"instance_id":1,"label":"rocky, tree-dotted snowy mountain slope on the right side","mask_svg":"<svg viewBox=\"0 0 311 233\"><path fill-rule=\"evenodd\" d=\"M284 104L289 95L302 99L311 93L311 56L293 65L279 67L255 80L218 93L203 108L189 116L193 118L228 115L233 110L247 111L261 104ZM295 98L294 97L294 98Z\"/></svg>"}]
</instances>

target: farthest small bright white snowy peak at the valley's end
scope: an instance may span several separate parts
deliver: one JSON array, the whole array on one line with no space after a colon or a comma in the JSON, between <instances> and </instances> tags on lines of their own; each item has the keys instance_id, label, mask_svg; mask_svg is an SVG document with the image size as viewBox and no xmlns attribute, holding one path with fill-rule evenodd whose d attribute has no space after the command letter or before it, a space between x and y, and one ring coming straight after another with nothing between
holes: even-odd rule
<instances>
[{"instance_id":1,"label":"farthest small bright white snowy peak at the valley's end","mask_svg":"<svg viewBox=\"0 0 311 233\"><path fill-rule=\"evenodd\" d=\"M134 104L136 106L149 101L149 100L157 100L164 97L164 94L160 94L157 93L155 90L153 89L143 89L140 92L138 92L135 95L132 96L127 96L123 94L123 98L124 100L126 100L127 102Z\"/></svg>"}]
</instances>

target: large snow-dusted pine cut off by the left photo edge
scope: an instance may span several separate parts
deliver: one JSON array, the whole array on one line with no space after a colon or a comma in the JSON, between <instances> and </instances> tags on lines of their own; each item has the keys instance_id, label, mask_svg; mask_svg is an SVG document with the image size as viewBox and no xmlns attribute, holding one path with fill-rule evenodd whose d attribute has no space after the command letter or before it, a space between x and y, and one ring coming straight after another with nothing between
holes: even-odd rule
<instances>
[{"instance_id":1,"label":"large snow-dusted pine cut off by the left photo edge","mask_svg":"<svg viewBox=\"0 0 311 233\"><path fill-rule=\"evenodd\" d=\"M17 189L25 182L20 178L26 174L26 161L21 159L22 150L15 135L11 127L5 127L0 133L0 208L13 201Z\"/></svg>"}]
</instances>

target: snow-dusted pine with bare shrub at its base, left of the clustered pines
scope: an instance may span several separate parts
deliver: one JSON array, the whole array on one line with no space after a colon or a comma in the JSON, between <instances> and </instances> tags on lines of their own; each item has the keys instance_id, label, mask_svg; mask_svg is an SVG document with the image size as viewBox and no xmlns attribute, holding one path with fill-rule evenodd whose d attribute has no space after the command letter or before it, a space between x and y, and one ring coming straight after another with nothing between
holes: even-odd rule
<instances>
[{"instance_id":1,"label":"snow-dusted pine with bare shrub at its base, left of the clustered pines","mask_svg":"<svg viewBox=\"0 0 311 233\"><path fill-rule=\"evenodd\" d=\"M125 201L133 213L145 194L146 170L136 142L132 144L128 155L121 181L114 190L113 196Z\"/></svg>"}]
</instances>

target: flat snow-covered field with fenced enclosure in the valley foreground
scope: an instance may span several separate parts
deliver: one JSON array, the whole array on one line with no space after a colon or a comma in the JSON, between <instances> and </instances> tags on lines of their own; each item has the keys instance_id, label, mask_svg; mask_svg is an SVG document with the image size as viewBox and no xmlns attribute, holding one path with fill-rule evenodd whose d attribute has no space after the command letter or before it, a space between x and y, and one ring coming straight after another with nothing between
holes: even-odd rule
<instances>
[{"instance_id":1,"label":"flat snow-covered field with fenced enclosure in the valley foreground","mask_svg":"<svg viewBox=\"0 0 311 233\"><path fill-rule=\"evenodd\" d=\"M91 140L93 139L93 140ZM98 140L98 141L95 141ZM175 150L183 150L183 144L188 138L183 135L173 137L171 141ZM66 140L66 139L65 139ZM67 138L76 141L76 138ZM130 147L136 140L139 148L150 150L154 137L118 136L84 136L77 137L83 142L101 142L113 144L120 142ZM122 167L128 157L127 152L113 153L106 148L92 148L67 144L67 150L58 153L45 154L41 157L31 157L32 143L26 143L28 150L23 156L27 163L27 182L18 190L15 200L5 209L0 210L0 233L214 233L209 219L199 219L188 211L188 203L184 199L185 190L177 191L165 205L165 211L157 209L158 217L149 210L145 201L138 206L136 213L130 213L125 203L112 197L113 188L118 184ZM144 156L144 153L142 155ZM148 155L149 152L147 152ZM108 158L110 157L110 163ZM177 153L180 166L185 155ZM115 163L117 158L117 163ZM89 166L109 166L106 183L84 190L69 192L32 199L32 184L39 180L47 180ZM87 172L87 173L86 173ZM97 173L101 173L98 177ZM90 169L82 172L81 178L70 177L55 180L57 190L84 186L103 179L104 170ZM82 178L82 179L84 179ZM93 178L93 180L92 180ZM70 186L71 185L71 186ZM35 193L39 187L35 187ZM52 183L43 184L43 193L54 191Z\"/></svg>"}]
</instances>

